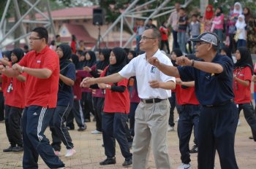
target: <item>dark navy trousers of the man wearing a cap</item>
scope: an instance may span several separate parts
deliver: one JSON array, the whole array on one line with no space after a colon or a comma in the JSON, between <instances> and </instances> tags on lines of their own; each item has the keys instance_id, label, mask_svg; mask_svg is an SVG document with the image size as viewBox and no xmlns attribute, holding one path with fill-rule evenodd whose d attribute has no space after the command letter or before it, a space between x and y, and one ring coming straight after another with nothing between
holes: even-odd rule
<instances>
[{"instance_id":1,"label":"dark navy trousers of the man wearing a cap","mask_svg":"<svg viewBox=\"0 0 256 169\"><path fill-rule=\"evenodd\" d=\"M199 169L214 169L216 150L221 168L238 169L234 150L237 122L235 103L202 107L198 125Z\"/></svg>"}]
</instances>

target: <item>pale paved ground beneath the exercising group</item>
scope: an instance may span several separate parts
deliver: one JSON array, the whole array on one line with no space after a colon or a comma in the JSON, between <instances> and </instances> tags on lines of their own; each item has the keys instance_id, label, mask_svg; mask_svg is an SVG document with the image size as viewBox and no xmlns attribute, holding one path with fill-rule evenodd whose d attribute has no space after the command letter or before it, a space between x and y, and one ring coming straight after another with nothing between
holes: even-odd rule
<instances>
[{"instance_id":1,"label":"pale paved ground beneath the exercising group","mask_svg":"<svg viewBox=\"0 0 256 169\"><path fill-rule=\"evenodd\" d=\"M84 132L77 130L70 131L72 139L75 144L77 154L71 158L65 158L66 150L61 150L61 160L66 164L66 168L122 168L121 164L124 158L121 157L121 152L118 144L116 144L116 165L100 166L99 161L105 159L104 148L102 147L102 135L92 135L91 131L95 129L95 122L87 123L88 128ZM45 133L50 138L49 129ZM256 168L256 144L254 141L249 140L251 135L249 126L246 124L244 114L241 114L241 126L238 127L236 132L236 159L238 167L242 169ZM4 123L0 123L0 149L9 146L7 136L5 134ZM192 142L190 144L192 146ZM173 168L178 168L180 165L180 154L178 151L178 136L177 132L168 133L168 149ZM0 151L0 168L22 168L22 153L4 153ZM197 154L192 154L192 168L197 168ZM48 168L45 163L39 158L39 168ZM156 168L154 165L154 157L152 154L149 156L148 168ZM219 159L216 157L216 168L219 169Z\"/></svg>"}]
</instances>

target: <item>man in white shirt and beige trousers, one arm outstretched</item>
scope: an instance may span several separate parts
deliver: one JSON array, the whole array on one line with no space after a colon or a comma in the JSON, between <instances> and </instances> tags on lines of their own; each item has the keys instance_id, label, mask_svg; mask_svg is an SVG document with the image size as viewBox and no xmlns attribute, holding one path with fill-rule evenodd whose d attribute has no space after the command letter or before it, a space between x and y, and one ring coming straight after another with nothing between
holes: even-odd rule
<instances>
[{"instance_id":1,"label":"man in white shirt and beige trousers, one arm outstretched","mask_svg":"<svg viewBox=\"0 0 256 169\"><path fill-rule=\"evenodd\" d=\"M132 59L117 74L102 78L83 79L82 87L95 83L119 82L130 76L137 77L138 95L140 104L135 112L135 138L133 139L132 168L146 168L148 147L150 142L153 149L157 168L170 168L170 159L167 154L167 126L170 103L167 98L176 87L176 80L172 76L162 74L155 66L148 63L148 59L157 57L167 65L172 66L170 59L159 50L161 34L157 29L147 29L140 38L140 49L143 55Z\"/></svg>"}]
</instances>

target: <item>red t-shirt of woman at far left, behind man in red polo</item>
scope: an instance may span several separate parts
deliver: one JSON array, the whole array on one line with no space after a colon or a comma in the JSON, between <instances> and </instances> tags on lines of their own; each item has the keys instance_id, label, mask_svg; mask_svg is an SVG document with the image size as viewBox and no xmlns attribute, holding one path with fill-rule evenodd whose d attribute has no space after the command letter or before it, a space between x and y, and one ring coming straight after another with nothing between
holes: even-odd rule
<instances>
[{"instance_id":1,"label":"red t-shirt of woman at far left, behind man in red polo","mask_svg":"<svg viewBox=\"0 0 256 169\"><path fill-rule=\"evenodd\" d=\"M26 76L25 73L21 74ZM25 82L20 82L17 78L7 77L4 74L1 75L2 82L4 83L4 104L8 106L24 108L25 106ZM10 83L12 82L12 91L7 92Z\"/></svg>"}]
</instances>

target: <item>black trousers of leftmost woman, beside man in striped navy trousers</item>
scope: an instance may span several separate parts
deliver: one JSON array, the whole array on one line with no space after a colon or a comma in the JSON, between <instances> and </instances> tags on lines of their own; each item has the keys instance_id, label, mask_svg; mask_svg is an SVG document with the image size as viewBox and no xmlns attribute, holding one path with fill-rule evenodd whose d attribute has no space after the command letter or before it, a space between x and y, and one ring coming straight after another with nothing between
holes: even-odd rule
<instances>
[{"instance_id":1,"label":"black trousers of leftmost woman, beside man in striped navy trousers","mask_svg":"<svg viewBox=\"0 0 256 169\"><path fill-rule=\"evenodd\" d=\"M21 115L23 109L5 105L5 127L11 146L23 146L21 136Z\"/></svg>"}]
</instances>

